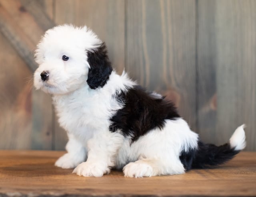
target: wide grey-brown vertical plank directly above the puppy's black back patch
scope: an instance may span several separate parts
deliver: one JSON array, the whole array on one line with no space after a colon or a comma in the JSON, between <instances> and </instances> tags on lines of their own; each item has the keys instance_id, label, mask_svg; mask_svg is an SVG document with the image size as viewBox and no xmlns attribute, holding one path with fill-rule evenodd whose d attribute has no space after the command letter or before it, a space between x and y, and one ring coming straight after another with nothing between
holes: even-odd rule
<instances>
[{"instance_id":1,"label":"wide grey-brown vertical plank directly above the puppy's black back patch","mask_svg":"<svg viewBox=\"0 0 256 197\"><path fill-rule=\"evenodd\" d=\"M196 128L194 0L126 1L126 70L172 99Z\"/></svg>"}]
</instances>

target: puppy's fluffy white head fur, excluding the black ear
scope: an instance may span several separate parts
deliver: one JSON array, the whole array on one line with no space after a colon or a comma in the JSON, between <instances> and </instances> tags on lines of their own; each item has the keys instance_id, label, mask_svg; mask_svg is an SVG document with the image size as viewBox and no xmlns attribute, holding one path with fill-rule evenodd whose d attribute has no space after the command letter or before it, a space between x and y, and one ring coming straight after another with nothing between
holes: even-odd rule
<instances>
[{"instance_id":1,"label":"puppy's fluffy white head fur, excluding the black ear","mask_svg":"<svg viewBox=\"0 0 256 197\"><path fill-rule=\"evenodd\" d=\"M90 65L88 51L99 47L102 41L86 26L56 26L44 34L36 49L36 62L39 64L34 73L34 86L46 93L70 93L86 83ZM66 55L67 61L62 57ZM41 79L47 71L49 78Z\"/></svg>"}]
</instances>

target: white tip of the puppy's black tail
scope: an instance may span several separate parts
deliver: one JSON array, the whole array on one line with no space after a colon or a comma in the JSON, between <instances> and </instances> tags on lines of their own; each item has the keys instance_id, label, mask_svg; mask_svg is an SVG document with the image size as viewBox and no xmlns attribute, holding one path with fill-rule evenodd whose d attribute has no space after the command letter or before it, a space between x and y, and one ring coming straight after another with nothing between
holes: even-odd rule
<instances>
[{"instance_id":1,"label":"white tip of the puppy's black tail","mask_svg":"<svg viewBox=\"0 0 256 197\"><path fill-rule=\"evenodd\" d=\"M230 147L234 150L243 150L246 146L244 128L245 124L239 126L229 140Z\"/></svg>"}]
</instances>

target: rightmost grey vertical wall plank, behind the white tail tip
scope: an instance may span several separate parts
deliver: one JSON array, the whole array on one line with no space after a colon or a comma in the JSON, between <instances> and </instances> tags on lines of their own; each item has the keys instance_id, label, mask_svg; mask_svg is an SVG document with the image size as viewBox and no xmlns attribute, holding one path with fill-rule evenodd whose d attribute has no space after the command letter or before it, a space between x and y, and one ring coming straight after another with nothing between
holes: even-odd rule
<instances>
[{"instance_id":1,"label":"rightmost grey vertical wall plank, behind the white tail tip","mask_svg":"<svg viewBox=\"0 0 256 197\"><path fill-rule=\"evenodd\" d=\"M256 2L216 1L218 142L246 123L247 150L256 141Z\"/></svg>"}]
</instances>

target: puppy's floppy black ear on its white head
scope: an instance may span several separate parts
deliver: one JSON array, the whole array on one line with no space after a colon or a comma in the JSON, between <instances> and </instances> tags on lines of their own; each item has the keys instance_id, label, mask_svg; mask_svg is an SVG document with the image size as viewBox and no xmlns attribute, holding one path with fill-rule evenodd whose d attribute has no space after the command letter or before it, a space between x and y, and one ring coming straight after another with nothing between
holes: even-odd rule
<instances>
[{"instance_id":1,"label":"puppy's floppy black ear on its white head","mask_svg":"<svg viewBox=\"0 0 256 197\"><path fill-rule=\"evenodd\" d=\"M88 51L88 63L90 69L88 72L87 83L91 89L96 89L98 87L103 87L112 72L111 63L108 59L108 51L105 43L102 43L100 47L95 50Z\"/></svg>"}]
</instances>

